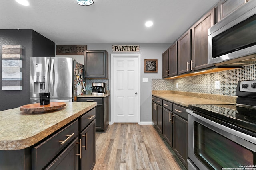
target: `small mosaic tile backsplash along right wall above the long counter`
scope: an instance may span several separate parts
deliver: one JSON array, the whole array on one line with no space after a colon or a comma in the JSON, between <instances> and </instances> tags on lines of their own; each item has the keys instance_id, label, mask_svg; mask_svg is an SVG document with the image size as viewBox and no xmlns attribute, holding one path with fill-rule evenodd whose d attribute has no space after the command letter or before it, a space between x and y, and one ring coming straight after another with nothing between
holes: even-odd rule
<instances>
[{"instance_id":1,"label":"small mosaic tile backsplash along right wall above the long counter","mask_svg":"<svg viewBox=\"0 0 256 170\"><path fill-rule=\"evenodd\" d=\"M184 92L236 95L239 80L256 80L256 64L242 68L202 74L177 79L152 79L152 90L175 90ZM215 89L215 81L220 81L220 89ZM176 84L178 83L178 88Z\"/></svg>"}]
</instances>

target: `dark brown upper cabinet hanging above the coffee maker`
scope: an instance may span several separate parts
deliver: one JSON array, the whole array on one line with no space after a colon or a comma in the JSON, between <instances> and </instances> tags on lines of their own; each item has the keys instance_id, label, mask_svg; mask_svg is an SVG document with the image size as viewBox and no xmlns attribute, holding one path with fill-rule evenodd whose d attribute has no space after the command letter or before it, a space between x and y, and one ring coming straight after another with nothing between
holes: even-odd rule
<instances>
[{"instance_id":1,"label":"dark brown upper cabinet hanging above the coffee maker","mask_svg":"<svg viewBox=\"0 0 256 170\"><path fill-rule=\"evenodd\" d=\"M86 50L84 52L85 78L108 78L108 52Z\"/></svg>"}]
</instances>

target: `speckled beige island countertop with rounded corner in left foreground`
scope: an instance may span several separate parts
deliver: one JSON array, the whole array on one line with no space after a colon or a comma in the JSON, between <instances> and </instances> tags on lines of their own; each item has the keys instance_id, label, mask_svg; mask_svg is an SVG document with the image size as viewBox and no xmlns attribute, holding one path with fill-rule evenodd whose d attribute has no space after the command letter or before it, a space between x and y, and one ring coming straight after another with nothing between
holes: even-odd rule
<instances>
[{"instance_id":1,"label":"speckled beige island countertop with rounded corner in left foreground","mask_svg":"<svg viewBox=\"0 0 256 170\"><path fill-rule=\"evenodd\" d=\"M64 107L44 113L22 112L20 108L0 111L0 150L30 147L96 105L96 102L66 102Z\"/></svg>"}]
</instances>

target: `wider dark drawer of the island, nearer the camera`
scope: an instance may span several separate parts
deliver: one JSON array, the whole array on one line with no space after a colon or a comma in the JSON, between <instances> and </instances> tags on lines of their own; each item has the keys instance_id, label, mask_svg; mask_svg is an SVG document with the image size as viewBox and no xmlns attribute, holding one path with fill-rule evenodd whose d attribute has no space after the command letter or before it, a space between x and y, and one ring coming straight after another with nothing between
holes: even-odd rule
<instances>
[{"instance_id":1,"label":"wider dark drawer of the island, nearer the camera","mask_svg":"<svg viewBox=\"0 0 256 170\"><path fill-rule=\"evenodd\" d=\"M32 169L41 170L78 136L78 120L32 148Z\"/></svg>"}]
</instances>

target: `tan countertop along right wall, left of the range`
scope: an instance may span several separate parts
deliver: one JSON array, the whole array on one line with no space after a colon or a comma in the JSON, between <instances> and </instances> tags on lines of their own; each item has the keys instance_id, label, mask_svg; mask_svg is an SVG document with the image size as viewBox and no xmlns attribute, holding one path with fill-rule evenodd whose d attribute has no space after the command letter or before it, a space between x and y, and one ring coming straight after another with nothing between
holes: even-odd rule
<instances>
[{"instance_id":1,"label":"tan countertop along right wall, left of the range","mask_svg":"<svg viewBox=\"0 0 256 170\"><path fill-rule=\"evenodd\" d=\"M152 90L152 95L188 107L193 104L234 104L236 96Z\"/></svg>"}]
</instances>

